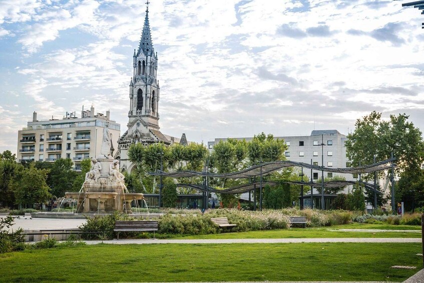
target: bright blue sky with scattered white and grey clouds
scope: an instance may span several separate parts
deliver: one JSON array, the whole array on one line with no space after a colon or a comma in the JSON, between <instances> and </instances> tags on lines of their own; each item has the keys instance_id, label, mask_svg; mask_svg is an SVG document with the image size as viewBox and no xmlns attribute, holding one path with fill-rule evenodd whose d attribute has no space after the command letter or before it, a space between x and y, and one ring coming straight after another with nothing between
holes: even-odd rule
<instances>
[{"instance_id":1,"label":"bright blue sky with scattered white and grey clouds","mask_svg":"<svg viewBox=\"0 0 424 283\"><path fill-rule=\"evenodd\" d=\"M0 151L91 105L126 130L145 1L0 0ZM408 1L151 0L159 125L216 137L347 134L375 110L424 131L424 16Z\"/></svg>"}]
</instances>

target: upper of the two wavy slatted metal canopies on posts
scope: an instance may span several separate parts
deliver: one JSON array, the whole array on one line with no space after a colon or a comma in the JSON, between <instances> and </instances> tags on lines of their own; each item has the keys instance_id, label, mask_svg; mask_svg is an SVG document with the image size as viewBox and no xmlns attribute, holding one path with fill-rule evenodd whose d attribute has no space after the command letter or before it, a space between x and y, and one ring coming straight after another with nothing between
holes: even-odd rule
<instances>
[{"instance_id":1,"label":"upper of the two wavy slatted metal canopies on posts","mask_svg":"<svg viewBox=\"0 0 424 283\"><path fill-rule=\"evenodd\" d=\"M149 175L154 176L166 176L172 178L183 178L183 177L194 177L194 176L208 176L208 177L216 177L216 178L230 178L230 179L240 179L240 178L249 178L256 177L262 174L268 175L272 172L278 171L280 169L286 167L304 167L318 171L325 172L334 172L334 173L348 173L348 174L363 174L363 173L371 173L382 171L391 168L392 162L395 161L396 158L390 158L378 163L370 164L370 165L362 165L358 167L349 167L349 168L332 168L332 167L321 167L318 165L312 165L302 162L295 161L271 161L264 162L258 165L254 165L245 170L241 170L238 172L231 173L207 173L207 172L197 172L197 171L176 171L176 172L149 172ZM394 166L394 164L393 164Z\"/></svg>"}]
</instances>

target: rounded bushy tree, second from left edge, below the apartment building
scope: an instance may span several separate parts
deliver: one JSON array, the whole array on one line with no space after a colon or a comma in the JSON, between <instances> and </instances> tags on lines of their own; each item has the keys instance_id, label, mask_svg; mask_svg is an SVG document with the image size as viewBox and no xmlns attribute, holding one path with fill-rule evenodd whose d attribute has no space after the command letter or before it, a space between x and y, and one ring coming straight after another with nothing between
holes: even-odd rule
<instances>
[{"instance_id":1,"label":"rounded bushy tree, second from left edge, below the apartment building","mask_svg":"<svg viewBox=\"0 0 424 283\"><path fill-rule=\"evenodd\" d=\"M12 183L16 203L32 206L48 201L52 194L46 183L48 169L37 169L34 164L20 170Z\"/></svg>"}]
</instances>

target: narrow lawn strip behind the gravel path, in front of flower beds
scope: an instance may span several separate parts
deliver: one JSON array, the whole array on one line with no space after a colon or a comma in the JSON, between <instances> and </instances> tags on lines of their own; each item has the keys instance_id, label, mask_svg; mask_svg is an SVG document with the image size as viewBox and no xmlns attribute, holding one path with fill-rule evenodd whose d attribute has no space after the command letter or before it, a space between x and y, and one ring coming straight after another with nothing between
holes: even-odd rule
<instances>
[{"instance_id":1,"label":"narrow lawn strip behind the gravel path, in front of flower beds","mask_svg":"<svg viewBox=\"0 0 424 283\"><path fill-rule=\"evenodd\" d=\"M347 229L348 225L342 225ZM340 227L341 228L341 227ZM339 229L340 229L339 228ZM348 232L330 231L331 227L290 228L279 230L261 230L248 232L229 232L219 234L184 236L179 239L256 239L256 238L420 238L421 233L414 232ZM363 228L365 229L365 228ZM225 228L223 229L225 231Z\"/></svg>"}]
</instances>

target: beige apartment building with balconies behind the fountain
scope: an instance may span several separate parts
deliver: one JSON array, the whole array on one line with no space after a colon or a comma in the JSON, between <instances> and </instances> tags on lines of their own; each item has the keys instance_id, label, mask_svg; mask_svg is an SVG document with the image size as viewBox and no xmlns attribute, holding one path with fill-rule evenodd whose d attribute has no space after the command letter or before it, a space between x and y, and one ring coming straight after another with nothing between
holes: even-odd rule
<instances>
[{"instance_id":1,"label":"beige apartment building with balconies behind the fountain","mask_svg":"<svg viewBox=\"0 0 424 283\"><path fill-rule=\"evenodd\" d=\"M120 124L110 120L110 112L106 115L95 114L94 107L82 111L81 118L74 113L67 113L63 119L37 120L37 112L33 121L18 132L17 159L22 161L55 161L59 158L71 158L75 170L81 170L81 160L96 157L100 154L103 140L103 129L109 128L114 154L118 147Z\"/></svg>"}]
</instances>

